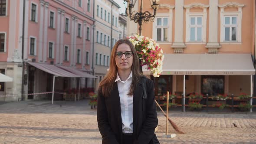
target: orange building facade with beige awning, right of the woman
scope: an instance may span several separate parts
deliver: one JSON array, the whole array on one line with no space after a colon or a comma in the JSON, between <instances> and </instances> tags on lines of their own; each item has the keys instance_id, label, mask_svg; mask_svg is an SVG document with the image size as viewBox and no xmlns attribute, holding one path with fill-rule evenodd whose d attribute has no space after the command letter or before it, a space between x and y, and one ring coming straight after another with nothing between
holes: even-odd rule
<instances>
[{"instance_id":1,"label":"orange building facade with beige awning, right of the woman","mask_svg":"<svg viewBox=\"0 0 256 144\"><path fill-rule=\"evenodd\" d=\"M253 95L255 5L255 0L161 0L154 22L142 26L142 35L156 40L165 55L156 95ZM148 1L143 11L152 11ZM138 33L135 29L128 20L127 33Z\"/></svg>"}]
</instances>

